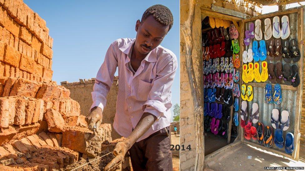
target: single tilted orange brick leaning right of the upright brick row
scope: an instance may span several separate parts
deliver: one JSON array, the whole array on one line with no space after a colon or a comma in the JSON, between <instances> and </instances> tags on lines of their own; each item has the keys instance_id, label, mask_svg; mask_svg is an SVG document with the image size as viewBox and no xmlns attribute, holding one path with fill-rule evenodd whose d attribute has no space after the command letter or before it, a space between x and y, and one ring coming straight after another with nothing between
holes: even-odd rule
<instances>
[{"instance_id":1,"label":"single tilted orange brick leaning right of the upright brick row","mask_svg":"<svg viewBox=\"0 0 305 171\"><path fill-rule=\"evenodd\" d=\"M65 121L63 120L62 115L54 110L48 109L45 113L46 121L48 123L48 130L51 132L63 132L63 126Z\"/></svg>"}]
</instances>

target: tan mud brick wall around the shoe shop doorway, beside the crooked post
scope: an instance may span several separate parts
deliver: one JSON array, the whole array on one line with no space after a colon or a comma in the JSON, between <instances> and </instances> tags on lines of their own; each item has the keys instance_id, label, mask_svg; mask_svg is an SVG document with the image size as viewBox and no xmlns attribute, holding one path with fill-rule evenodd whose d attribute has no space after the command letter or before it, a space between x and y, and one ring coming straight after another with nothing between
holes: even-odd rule
<instances>
[{"instance_id":1,"label":"tan mud brick wall around the shoe shop doorway, beside the crooked post","mask_svg":"<svg viewBox=\"0 0 305 171\"><path fill-rule=\"evenodd\" d=\"M189 15L189 0L180 1L180 25L187 21ZM235 3L236 2L236 3ZM193 70L198 87L202 87L202 51L201 51L201 21L206 16L201 16L201 8L211 10L212 4L232 9L235 11L246 13L249 17L255 16L261 12L259 6L252 5L245 1L239 0L201 0L196 1L195 15L192 25L192 62ZM191 94L191 87L186 69L186 43L184 40L183 31L180 31L180 144L187 146L191 145L192 150L180 152L180 168L181 170L194 170L196 161L196 140L195 135L200 134L195 130L194 121L194 103ZM200 95L199 95L200 96ZM200 97L202 98L202 97ZM203 111L203 110L202 110ZM203 114L202 114L203 116ZM203 123L202 123L203 124ZM198 169L198 168L197 168Z\"/></svg>"}]
</instances>

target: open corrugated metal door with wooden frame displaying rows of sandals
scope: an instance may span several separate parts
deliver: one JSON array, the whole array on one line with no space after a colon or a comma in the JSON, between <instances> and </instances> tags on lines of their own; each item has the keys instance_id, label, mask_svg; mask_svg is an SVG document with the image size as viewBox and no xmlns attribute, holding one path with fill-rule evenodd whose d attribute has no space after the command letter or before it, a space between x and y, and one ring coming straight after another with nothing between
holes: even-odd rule
<instances>
[{"instance_id":1,"label":"open corrugated metal door with wooden frame displaying rows of sandals","mask_svg":"<svg viewBox=\"0 0 305 171\"><path fill-rule=\"evenodd\" d=\"M242 142L298 159L303 8L241 20Z\"/></svg>"}]
</instances>

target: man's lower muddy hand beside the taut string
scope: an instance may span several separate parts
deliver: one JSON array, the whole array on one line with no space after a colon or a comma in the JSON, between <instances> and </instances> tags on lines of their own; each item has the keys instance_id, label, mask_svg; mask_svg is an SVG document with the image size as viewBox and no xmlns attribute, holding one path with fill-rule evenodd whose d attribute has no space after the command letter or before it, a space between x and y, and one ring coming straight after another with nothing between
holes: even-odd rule
<instances>
[{"instance_id":1,"label":"man's lower muddy hand beside the taut string","mask_svg":"<svg viewBox=\"0 0 305 171\"><path fill-rule=\"evenodd\" d=\"M123 162L123 159L125 157L126 152L130 149L131 145L127 142L118 142L118 144L115 146L115 149L113 150L114 159L108 163L104 171L110 171L116 168L120 163Z\"/></svg>"}]
</instances>

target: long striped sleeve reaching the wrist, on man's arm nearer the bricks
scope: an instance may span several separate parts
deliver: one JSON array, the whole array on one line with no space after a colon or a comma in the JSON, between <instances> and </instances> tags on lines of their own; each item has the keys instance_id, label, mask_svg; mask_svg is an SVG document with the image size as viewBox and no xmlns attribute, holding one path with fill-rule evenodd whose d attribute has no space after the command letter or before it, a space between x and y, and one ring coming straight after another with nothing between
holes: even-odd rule
<instances>
[{"instance_id":1,"label":"long striped sleeve reaching the wrist, on man's arm nearer the bricks","mask_svg":"<svg viewBox=\"0 0 305 171\"><path fill-rule=\"evenodd\" d=\"M117 50L118 45L115 41L109 46L105 55L105 60L96 75L93 92L91 92L93 103L89 112L93 107L98 106L104 110L104 106L106 106L106 96L110 91L113 83L113 76L118 67Z\"/></svg>"}]
</instances>

